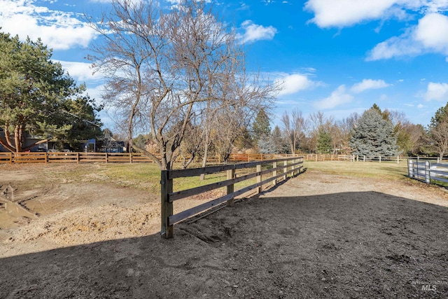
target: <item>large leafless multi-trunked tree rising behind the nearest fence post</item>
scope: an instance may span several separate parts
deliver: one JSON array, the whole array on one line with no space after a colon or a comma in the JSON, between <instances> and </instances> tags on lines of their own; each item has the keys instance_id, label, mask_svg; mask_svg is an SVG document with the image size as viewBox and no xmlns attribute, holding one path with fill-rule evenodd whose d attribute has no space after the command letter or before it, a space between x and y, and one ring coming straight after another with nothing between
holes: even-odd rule
<instances>
[{"instance_id":1,"label":"large leafless multi-trunked tree rising behind the nearest fence post","mask_svg":"<svg viewBox=\"0 0 448 299\"><path fill-rule=\"evenodd\" d=\"M89 56L93 69L106 75L104 99L126 121L132 148L144 151L132 137L137 126L146 128L160 158L146 154L171 169L189 124L200 123L210 102L235 100L223 91L244 53L204 1L181 1L172 10L132 0L112 7L99 22L90 20L102 36Z\"/></svg>"}]
</instances>

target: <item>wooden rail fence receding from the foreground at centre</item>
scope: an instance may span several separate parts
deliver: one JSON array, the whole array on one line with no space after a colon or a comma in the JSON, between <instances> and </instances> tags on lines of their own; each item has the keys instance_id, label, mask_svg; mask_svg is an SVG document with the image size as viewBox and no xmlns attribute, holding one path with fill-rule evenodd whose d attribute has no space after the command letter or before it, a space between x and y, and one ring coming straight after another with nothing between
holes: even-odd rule
<instances>
[{"instance_id":1,"label":"wooden rail fence receding from the foreground at centre","mask_svg":"<svg viewBox=\"0 0 448 299\"><path fill-rule=\"evenodd\" d=\"M283 162L283 165L279 163ZM289 164L288 164L289 162ZM267 168L262 170L262 166L268 166L272 168ZM255 172L244 174L241 176L235 176L236 169L250 169L255 167ZM260 193L262 186L271 183L275 186L279 179L286 180L288 175L292 176L299 174L303 167L303 157L292 157L292 158L281 158L276 160L260 160L256 162L245 162L233 165L221 165L221 166L211 166L202 168L192 168L192 169L175 169L175 170L162 170L161 173L161 222L162 228L160 234L162 237L171 238L173 237L174 223L178 223L190 216L198 214L202 211L210 209L211 207L216 207L218 204L227 202L228 205L232 206L235 197L244 194L250 190L257 189ZM217 183L210 183L205 186L190 188L187 190L181 190L173 192L173 180L176 178L189 177L189 176L200 176L201 174L216 174L218 172L226 172L227 179L225 181L219 181ZM266 178L267 174L272 174ZM257 183L251 184L239 190L235 190L235 183L246 181L248 179L256 178ZM178 214L173 214L173 202L176 200L181 200L185 197L192 195L198 195L209 190L215 190L217 188L226 187L227 194L218 197L214 200L200 204L197 207L187 209L186 211L181 211Z\"/></svg>"}]
</instances>

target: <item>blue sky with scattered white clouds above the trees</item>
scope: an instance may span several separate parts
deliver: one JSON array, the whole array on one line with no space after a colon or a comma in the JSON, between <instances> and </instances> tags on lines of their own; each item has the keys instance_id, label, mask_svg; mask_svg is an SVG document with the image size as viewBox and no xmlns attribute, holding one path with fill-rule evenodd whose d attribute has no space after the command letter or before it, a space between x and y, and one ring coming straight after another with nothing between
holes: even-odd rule
<instances>
[{"instance_id":1,"label":"blue sky with scattered white clouds above the trees","mask_svg":"<svg viewBox=\"0 0 448 299\"><path fill-rule=\"evenodd\" d=\"M244 41L248 69L283 82L274 124L286 110L339 120L376 103L428 125L448 102L448 0L209 1ZM97 36L80 15L98 15L109 5L0 0L0 27L21 39L41 37L53 48L52 59L102 102L103 79L92 76L84 59Z\"/></svg>"}]
</instances>

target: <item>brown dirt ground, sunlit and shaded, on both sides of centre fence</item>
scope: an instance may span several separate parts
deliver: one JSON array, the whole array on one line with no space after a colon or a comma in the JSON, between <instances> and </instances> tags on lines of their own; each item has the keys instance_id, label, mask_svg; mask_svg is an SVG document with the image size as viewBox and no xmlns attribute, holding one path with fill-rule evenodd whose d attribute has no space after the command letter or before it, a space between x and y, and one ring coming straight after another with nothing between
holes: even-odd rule
<instances>
[{"instance_id":1,"label":"brown dirt ground, sunlit and shaded, on both sides of centre fence","mask_svg":"<svg viewBox=\"0 0 448 299\"><path fill-rule=\"evenodd\" d=\"M448 298L442 188L308 169L167 240L155 195L0 171L0 298Z\"/></svg>"}]
</instances>

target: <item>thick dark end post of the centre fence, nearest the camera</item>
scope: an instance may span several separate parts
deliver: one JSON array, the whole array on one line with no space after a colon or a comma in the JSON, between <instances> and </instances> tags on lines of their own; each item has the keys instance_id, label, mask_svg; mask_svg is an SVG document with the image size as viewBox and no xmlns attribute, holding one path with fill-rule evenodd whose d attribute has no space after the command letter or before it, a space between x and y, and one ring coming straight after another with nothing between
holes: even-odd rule
<instances>
[{"instance_id":1,"label":"thick dark end post of the centre fence, nearest the camera","mask_svg":"<svg viewBox=\"0 0 448 299\"><path fill-rule=\"evenodd\" d=\"M174 227L169 225L168 217L173 214L173 203L169 202L168 195L173 192L173 180L169 179L169 170L162 170L160 179L160 198L161 198L161 222L162 228L160 229L160 235L166 239L173 237Z\"/></svg>"}]
</instances>

